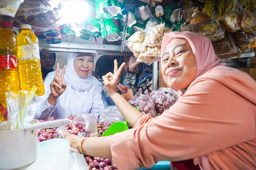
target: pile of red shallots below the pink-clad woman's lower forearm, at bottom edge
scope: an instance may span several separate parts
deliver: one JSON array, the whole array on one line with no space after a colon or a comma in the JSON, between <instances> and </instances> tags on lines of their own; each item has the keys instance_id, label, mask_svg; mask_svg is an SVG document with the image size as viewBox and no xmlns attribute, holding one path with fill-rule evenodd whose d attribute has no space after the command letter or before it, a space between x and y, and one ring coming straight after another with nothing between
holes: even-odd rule
<instances>
[{"instance_id":1,"label":"pile of red shallots below the pink-clad woman's lower forearm, at bottom edge","mask_svg":"<svg viewBox=\"0 0 256 170\"><path fill-rule=\"evenodd\" d=\"M85 156L85 161L88 164L89 170L114 170L116 165L110 159L100 157Z\"/></svg>"}]
</instances>

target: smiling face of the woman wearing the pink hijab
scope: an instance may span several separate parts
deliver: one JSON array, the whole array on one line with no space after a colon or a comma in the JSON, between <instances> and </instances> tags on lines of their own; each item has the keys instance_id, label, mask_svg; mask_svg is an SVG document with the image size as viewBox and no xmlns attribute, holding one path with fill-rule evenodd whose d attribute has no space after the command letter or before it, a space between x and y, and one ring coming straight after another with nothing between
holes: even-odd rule
<instances>
[{"instance_id":1,"label":"smiling face of the woman wearing the pink hijab","mask_svg":"<svg viewBox=\"0 0 256 170\"><path fill-rule=\"evenodd\" d=\"M162 61L163 79L172 89L178 91L187 88L195 79L197 63L186 39L171 40L166 46Z\"/></svg>"}]
</instances>

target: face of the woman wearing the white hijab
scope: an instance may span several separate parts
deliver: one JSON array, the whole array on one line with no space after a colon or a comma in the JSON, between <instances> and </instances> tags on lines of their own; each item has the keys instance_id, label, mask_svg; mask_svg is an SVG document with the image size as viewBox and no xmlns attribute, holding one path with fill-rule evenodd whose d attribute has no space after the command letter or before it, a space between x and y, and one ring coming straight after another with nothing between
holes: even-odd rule
<instances>
[{"instance_id":1,"label":"face of the woman wearing the white hijab","mask_svg":"<svg viewBox=\"0 0 256 170\"><path fill-rule=\"evenodd\" d=\"M87 77L94 67L94 56L90 54L79 54L74 58L74 69L79 77Z\"/></svg>"}]
</instances>

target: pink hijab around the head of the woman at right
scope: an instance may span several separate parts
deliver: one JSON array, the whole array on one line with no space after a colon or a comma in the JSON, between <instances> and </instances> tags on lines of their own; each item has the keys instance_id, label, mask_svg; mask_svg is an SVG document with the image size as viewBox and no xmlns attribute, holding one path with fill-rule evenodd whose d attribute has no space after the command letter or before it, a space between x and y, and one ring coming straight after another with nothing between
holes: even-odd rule
<instances>
[{"instance_id":1,"label":"pink hijab around the head of the woman at right","mask_svg":"<svg viewBox=\"0 0 256 170\"><path fill-rule=\"evenodd\" d=\"M174 31L165 34L161 46L161 56L165 53L168 43L174 38L184 38L189 42L197 62L196 78L213 67L226 65L225 62L219 63L220 58L215 55L211 41L207 37L194 32ZM161 58L161 64L162 63Z\"/></svg>"}]
</instances>

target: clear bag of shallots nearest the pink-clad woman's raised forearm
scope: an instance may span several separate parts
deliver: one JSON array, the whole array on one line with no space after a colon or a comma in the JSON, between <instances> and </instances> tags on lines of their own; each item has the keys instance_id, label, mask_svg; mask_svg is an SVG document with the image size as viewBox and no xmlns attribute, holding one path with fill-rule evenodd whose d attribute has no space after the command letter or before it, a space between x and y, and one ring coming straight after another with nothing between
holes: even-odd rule
<instances>
[{"instance_id":1,"label":"clear bag of shallots nearest the pink-clad woman's raised forearm","mask_svg":"<svg viewBox=\"0 0 256 170\"><path fill-rule=\"evenodd\" d=\"M140 112L143 114L150 113L152 117L156 116L155 104L148 95L140 95L133 97L129 100L129 103L134 107L139 107Z\"/></svg>"}]
</instances>

